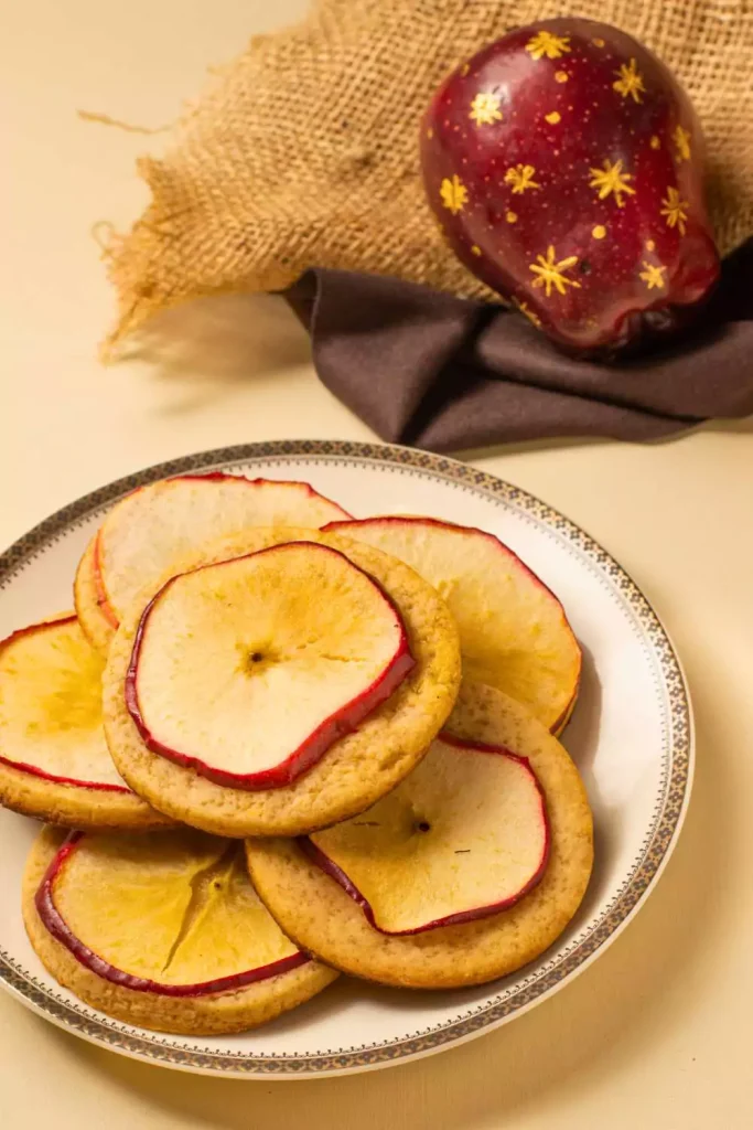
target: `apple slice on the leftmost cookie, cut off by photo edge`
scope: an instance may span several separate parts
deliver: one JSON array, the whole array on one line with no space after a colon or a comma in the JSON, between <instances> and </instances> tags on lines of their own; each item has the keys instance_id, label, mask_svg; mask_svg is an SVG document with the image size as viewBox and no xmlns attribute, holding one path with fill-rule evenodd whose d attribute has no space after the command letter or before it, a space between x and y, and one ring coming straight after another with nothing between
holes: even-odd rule
<instances>
[{"instance_id":1,"label":"apple slice on the leftmost cookie, cut off by photo edge","mask_svg":"<svg viewBox=\"0 0 753 1130\"><path fill-rule=\"evenodd\" d=\"M130 794L102 729L102 670L73 615L0 643L0 764L52 783Z\"/></svg>"}]
</instances>

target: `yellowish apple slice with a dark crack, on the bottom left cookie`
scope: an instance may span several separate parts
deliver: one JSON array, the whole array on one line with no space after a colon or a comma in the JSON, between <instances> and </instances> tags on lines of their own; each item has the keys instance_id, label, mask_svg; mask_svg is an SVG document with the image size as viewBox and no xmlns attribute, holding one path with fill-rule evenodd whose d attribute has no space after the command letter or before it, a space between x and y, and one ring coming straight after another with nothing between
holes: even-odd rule
<instances>
[{"instance_id":1,"label":"yellowish apple slice with a dark crack, on the bottom left cookie","mask_svg":"<svg viewBox=\"0 0 753 1130\"><path fill-rule=\"evenodd\" d=\"M137 992L237 991L310 960L260 902L240 846L189 829L138 837L75 832L35 905L82 966Z\"/></svg>"}]
</instances>

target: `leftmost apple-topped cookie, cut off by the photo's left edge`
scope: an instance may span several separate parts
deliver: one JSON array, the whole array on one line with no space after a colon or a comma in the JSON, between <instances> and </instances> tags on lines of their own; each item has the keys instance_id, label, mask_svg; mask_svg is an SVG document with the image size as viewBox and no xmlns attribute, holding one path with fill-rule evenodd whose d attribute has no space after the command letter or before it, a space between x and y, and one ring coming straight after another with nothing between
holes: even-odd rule
<instances>
[{"instance_id":1,"label":"leftmost apple-topped cookie, cut off by the photo's left edge","mask_svg":"<svg viewBox=\"0 0 753 1130\"><path fill-rule=\"evenodd\" d=\"M78 828L170 824L129 789L102 728L104 661L73 614L0 643L0 803Z\"/></svg>"}]
</instances>

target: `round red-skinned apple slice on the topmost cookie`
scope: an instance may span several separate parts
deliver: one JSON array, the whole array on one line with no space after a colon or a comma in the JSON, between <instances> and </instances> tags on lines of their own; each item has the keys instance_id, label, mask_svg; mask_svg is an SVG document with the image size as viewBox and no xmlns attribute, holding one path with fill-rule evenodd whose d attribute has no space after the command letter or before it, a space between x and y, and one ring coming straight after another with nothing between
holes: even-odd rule
<instances>
[{"instance_id":1,"label":"round red-skinned apple slice on the topmost cookie","mask_svg":"<svg viewBox=\"0 0 753 1130\"><path fill-rule=\"evenodd\" d=\"M217 784L274 789L413 666L401 614L373 577L294 541L168 581L141 617L125 702L154 753Z\"/></svg>"}]
</instances>

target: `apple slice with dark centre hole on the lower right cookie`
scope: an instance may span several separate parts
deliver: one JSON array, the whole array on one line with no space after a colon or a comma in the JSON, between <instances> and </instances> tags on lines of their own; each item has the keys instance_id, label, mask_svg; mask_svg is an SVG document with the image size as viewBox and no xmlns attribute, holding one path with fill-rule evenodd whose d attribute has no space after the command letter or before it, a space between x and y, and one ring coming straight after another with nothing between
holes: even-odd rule
<instances>
[{"instance_id":1,"label":"apple slice with dark centre hole on the lower right cookie","mask_svg":"<svg viewBox=\"0 0 753 1130\"><path fill-rule=\"evenodd\" d=\"M298 842L376 930L414 935L514 906L544 873L550 829L525 757L441 734L367 812Z\"/></svg>"}]
</instances>

